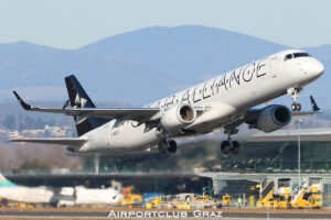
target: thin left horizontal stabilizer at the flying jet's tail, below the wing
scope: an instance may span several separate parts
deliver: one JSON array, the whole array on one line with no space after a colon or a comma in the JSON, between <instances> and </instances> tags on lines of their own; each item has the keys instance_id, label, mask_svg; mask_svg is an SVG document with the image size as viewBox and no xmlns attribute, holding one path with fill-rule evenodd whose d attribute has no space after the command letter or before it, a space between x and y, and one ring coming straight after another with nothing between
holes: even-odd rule
<instances>
[{"instance_id":1,"label":"thin left horizontal stabilizer at the flying jet's tail, below the wing","mask_svg":"<svg viewBox=\"0 0 331 220\"><path fill-rule=\"evenodd\" d=\"M29 142L39 144L58 144L58 145L83 145L88 140L87 139L74 139L74 138L63 138L63 139L12 139L10 142Z\"/></svg>"}]
</instances>

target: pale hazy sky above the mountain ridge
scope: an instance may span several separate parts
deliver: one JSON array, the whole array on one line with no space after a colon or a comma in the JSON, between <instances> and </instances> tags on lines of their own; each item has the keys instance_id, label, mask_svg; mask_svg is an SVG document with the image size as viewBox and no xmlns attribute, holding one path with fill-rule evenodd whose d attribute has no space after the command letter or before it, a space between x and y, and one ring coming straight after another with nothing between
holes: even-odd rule
<instances>
[{"instance_id":1,"label":"pale hazy sky above the mountain ridge","mask_svg":"<svg viewBox=\"0 0 331 220\"><path fill-rule=\"evenodd\" d=\"M302 47L331 44L330 0L0 0L0 43L76 48L153 25L199 24Z\"/></svg>"}]
</instances>

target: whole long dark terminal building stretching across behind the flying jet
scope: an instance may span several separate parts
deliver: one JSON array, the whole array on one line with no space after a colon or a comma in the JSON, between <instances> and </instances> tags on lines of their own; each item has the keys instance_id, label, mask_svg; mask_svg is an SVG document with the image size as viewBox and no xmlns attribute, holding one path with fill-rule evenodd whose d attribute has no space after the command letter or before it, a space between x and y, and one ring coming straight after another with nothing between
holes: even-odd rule
<instances>
[{"instance_id":1,"label":"whole long dark terminal building stretching across behind the flying jet","mask_svg":"<svg viewBox=\"0 0 331 220\"><path fill-rule=\"evenodd\" d=\"M35 186L70 186L89 183L89 187L107 186L113 180L124 186L130 184L140 193L160 193L175 195L179 193L210 194L221 197L225 194L243 197L252 195L249 188L256 185L266 186L275 178L289 178L293 188L300 180L309 177L323 179L323 205L331 206L331 142L302 141L300 142L300 176L298 173L298 142L243 142L238 154L203 153L211 148L220 152L218 141L211 144L196 143L195 150L180 150L177 155L146 155L146 156L116 156L99 157L97 173L95 172L95 156L86 157L84 169L81 173L65 175L26 173L7 174L18 184ZM184 154L185 153L185 154ZM201 157L193 158L200 154ZM214 156L213 163L201 163ZM136 158L138 157L138 158ZM204 170L179 169L190 161L175 161L188 157L192 164L204 166ZM192 158L191 158L192 157ZM114 166L115 164L115 166ZM166 164L164 166L162 164ZM188 167L191 167L189 165ZM255 191L256 194L256 191ZM258 195L255 195L256 198Z\"/></svg>"}]
</instances>

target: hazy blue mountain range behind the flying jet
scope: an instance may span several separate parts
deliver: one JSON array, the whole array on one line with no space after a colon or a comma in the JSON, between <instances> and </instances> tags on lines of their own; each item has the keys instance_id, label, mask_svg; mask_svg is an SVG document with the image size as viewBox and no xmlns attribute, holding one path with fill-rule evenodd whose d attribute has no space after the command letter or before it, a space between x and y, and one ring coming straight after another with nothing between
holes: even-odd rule
<instances>
[{"instance_id":1,"label":"hazy blue mountain range behind the flying jet","mask_svg":"<svg viewBox=\"0 0 331 220\"><path fill-rule=\"evenodd\" d=\"M140 106L285 48L245 34L195 25L141 29L78 50L26 42L0 44L0 98L12 100L8 91L17 88L31 99L65 100L63 78L75 74L97 101ZM329 69L331 45L305 50ZM308 91L318 100L327 98L328 81L327 73Z\"/></svg>"}]
</instances>

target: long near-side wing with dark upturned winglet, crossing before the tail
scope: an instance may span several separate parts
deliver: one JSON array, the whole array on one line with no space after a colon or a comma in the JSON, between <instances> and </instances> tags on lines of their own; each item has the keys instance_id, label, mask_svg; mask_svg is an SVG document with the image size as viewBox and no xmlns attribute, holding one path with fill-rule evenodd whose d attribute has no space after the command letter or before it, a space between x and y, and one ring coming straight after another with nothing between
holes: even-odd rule
<instances>
[{"instance_id":1,"label":"long near-side wing with dark upturned winglet, crossing before the tail","mask_svg":"<svg viewBox=\"0 0 331 220\"><path fill-rule=\"evenodd\" d=\"M62 108L62 109L51 109L51 108L41 108L35 106L30 106L23 101L23 99L15 92L17 99L23 107L23 109L28 111L39 111L39 112L50 112L50 113L63 113L66 116L73 117L96 117L96 118L106 118L106 119L116 119L116 118L125 118L127 120L136 120L140 121L142 119L151 118L157 114L160 109L159 108L126 108L126 109L97 109L97 108Z\"/></svg>"}]
</instances>

